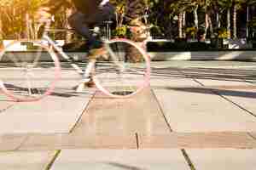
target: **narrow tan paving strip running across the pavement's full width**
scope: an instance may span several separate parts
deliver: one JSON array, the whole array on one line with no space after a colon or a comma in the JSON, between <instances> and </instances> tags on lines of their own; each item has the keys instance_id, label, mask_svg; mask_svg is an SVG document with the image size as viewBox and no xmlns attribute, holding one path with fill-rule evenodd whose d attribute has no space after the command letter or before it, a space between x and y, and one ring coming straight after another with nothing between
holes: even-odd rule
<instances>
[{"instance_id":1,"label":"narrow tan paving strip running across the pavement's full width","mask_svg":"<svg viewBox=\"0 0 256 170\"><path fill-rule=\"evenodd\" d=\"M65 149L163 149L256 148L255 133L158 133L117 136L113 134L5 135L0 151Z\"/></svg>"}]
</instances>

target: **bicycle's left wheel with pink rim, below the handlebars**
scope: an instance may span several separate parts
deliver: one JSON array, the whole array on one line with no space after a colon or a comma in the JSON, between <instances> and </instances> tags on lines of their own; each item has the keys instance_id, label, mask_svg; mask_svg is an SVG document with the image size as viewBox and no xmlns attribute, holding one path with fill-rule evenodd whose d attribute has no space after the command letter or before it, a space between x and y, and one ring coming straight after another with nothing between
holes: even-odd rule
<instances>
[{"instance_id":1,"label":"bicycle's left wheel with pink rim, below the handlebars","mask_svg":"<svg viewBox=\"0 0 256 170\"><path fill-rule=\"evenodd\" d=\"M32 50L15 50L22 46ZM53 91L61 67L53 50L41 43L22 40L1 50L0 71L3 94L14 101L36 101Z\"/></svg>"}]
</instances>

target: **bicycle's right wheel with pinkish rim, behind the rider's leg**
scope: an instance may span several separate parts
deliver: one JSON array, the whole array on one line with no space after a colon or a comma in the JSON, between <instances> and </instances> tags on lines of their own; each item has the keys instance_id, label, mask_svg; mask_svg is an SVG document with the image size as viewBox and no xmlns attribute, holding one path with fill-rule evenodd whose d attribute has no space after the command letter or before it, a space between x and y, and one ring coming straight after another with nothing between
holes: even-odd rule
<instances>
[{"instance_id":1,"label":"bicycle's right wheel with pinkish rim, behind the rider's leg","mask_svg":"<svg viewBox=\"0 0 256 170\"><path fill-rule=\"evenodd\" d=\"M149 85L150 59L143 48L126 39L113 39L97 58L94 82L104 94L127 98Z\"/></svg>"}]
</instances>

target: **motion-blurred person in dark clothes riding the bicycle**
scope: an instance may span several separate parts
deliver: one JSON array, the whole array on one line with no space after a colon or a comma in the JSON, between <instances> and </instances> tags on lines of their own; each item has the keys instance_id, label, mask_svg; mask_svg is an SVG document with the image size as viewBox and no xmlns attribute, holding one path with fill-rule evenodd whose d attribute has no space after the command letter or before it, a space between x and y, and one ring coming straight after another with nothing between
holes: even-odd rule
<instances>
[{"instance_id":1,"label":"motion-blurred person in dark clothes riding the bicycle","mask_svg":"<svg viewBox=\"0 0 256 170\"><path fill-rule=\"evenodd\" d=\"M55 14L62 6L73 8L73 14L68 17L68 22L73 29L86 39L89 48L89 58L104 53L103 43L99 37L94 37L90 27L102 24L115 16L115 8L109 0L49 0L38 9L38 18L47 19ZM93 86L91 77L85 82L87 87Z\"/></svg>"}]
</instances>

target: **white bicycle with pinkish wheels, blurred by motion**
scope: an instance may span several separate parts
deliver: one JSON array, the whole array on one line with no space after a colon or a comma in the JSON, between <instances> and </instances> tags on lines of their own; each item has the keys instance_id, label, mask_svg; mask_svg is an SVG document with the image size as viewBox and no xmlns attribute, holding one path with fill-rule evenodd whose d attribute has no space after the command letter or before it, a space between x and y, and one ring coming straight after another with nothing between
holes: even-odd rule
<instances>
[{"instance_id":1,"label":"white bicycle with pinkish wheels, blurred by motion","mask_svg":"<svg viewBox=\"0 0 256 170\"><path fill-rule=\"evenodd\" d=\"M61 79L60 57L81 77L79 86L91 77L96 88L112 98L129 98L149 85L150 59L135 42L124 38L103 39L104 54L90 58L88 65L81 68L49 37L51 20L43 22L45 31L41 39L14 41L0 52L0 89L9 99L37 101L52 94ZM9 50L25 43L32 44L34 49L24 53ZM22 58L22 54L27 56ZM133 60L131 54L136 54L139 61Z\"/></svg>"}]
</instances>

